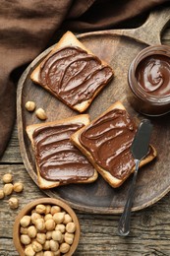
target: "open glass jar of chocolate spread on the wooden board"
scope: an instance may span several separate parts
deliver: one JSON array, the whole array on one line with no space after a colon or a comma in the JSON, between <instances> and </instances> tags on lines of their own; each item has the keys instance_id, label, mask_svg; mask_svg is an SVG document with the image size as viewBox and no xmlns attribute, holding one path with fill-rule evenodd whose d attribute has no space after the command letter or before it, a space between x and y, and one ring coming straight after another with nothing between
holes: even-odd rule
<instances>
[{"instance_id":1,"label":"open glass jar of chocolate spread on the wooden board","mask_svg":"<svg viewBox=\"0 0 170 256\"><path fill-rule=\"evenodd\" d=\"M162 115L170 111L170 47L144 48L129 68L128 99L142 114Z\"/></svg>"}]
</instances>

